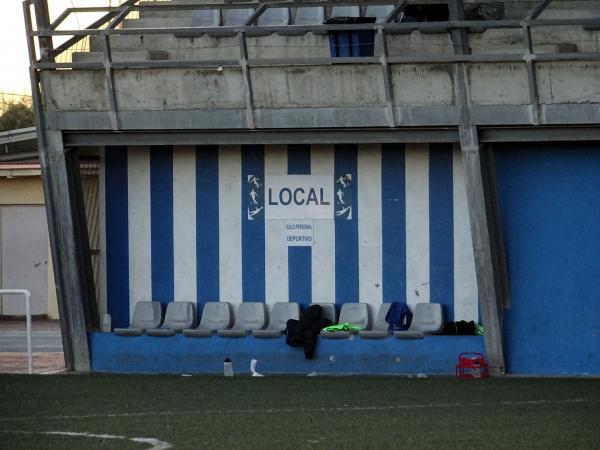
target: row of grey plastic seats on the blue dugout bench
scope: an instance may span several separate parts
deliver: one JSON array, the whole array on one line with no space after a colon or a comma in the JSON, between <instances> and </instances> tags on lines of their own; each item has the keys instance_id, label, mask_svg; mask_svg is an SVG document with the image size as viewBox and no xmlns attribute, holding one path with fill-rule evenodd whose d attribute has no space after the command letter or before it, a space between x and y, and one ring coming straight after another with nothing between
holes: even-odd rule
<instances>
[{"instance_id":1,"label":"row of grey plastic seats on the blue dugout bench","mask_svg":"<svg viewBox=\"0 0 600 450\"><path fill-rule=\"evenodd\" d=\"M345 303L342 305L339 323L359 326L358 335L365 339L383 339L392 333L388 331L385 318L390 303L383 303L371 327L369 308L366 303ZM322 315L336 323L336 309L333 303L321 303ZM395 331L398 339L420 339L426 334L441 333L444 328L442 305L439 303L418 303L414 306L411 326L407 331ZM300 318L300 306L294 302L274 303L267 325L264 303L243 302L239 305L235 323L232 324L232 305L227 302L208 302L204 305L200 324L196 327L194 304L191 302L170 302L162 317L160 302L138 302L135 305L131 326L114 330L119 336L173 336L183 332L188 337L210 337L218 334L223 337L244 337L252 334L258 338L276 338L286 329L289 319ZM233 326L232 326L233 325ZM265 328L266 326L266 328ZM347 339L350 332L322 331L327 339Z\"/></svg>"}]
</instances>

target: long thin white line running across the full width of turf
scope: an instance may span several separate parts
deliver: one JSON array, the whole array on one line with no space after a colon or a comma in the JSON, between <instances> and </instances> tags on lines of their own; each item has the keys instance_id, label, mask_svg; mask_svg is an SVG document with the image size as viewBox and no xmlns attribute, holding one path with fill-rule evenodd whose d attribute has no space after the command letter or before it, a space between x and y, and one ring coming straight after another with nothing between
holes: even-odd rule
<instances>
[{"instance_id":1,"label":"long thin white line running across the full width of turf","mask_svg":"<svg viewBox=\"0 0 600 450\"><path fill-rule=\"evenodd\" d=\"M468 408L479 406L537 406L537 405L562 405L572 403L600 403L600 400L576 398L566 400L523 400L499 402L474 402L474 403L424 403L415 405L390 405L390 406L350 406L343 405L332 408L274 408L274 409L204 409L189 411L143 411L133 413L108 413L108 414L83 414L64 416L31 416L31 417L0 417L1 422L17 422L27 420L65 420L65 419L94 419L94 418L119 418L119 417L150 417L150 416L187 416L187 415L215 415L215 414L284 414L298 412L348 412L348 411L393 411L428 408Z\"/></svg>"}]
</instances>

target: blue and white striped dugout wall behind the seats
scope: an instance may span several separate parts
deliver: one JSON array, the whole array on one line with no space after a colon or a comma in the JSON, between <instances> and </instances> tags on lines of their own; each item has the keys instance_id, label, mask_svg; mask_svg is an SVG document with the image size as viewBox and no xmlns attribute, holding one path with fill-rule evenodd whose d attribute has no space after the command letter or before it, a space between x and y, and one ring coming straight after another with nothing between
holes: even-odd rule
<instances>
[{"instance_id":1,"label":"blue and white striped dugout wall behind the seats","mask_svg":"<svg viewBox=\"0 0 600 450\"><path fill-rule=\"evenodd\" d=\"M107 147L101 167L101 312L140 300L437 302L477 320L461 156L451 145ZM351 220L248 220L248 175L351 174ZM305 221L303 221L305 222Z\"/></svg>"}]
</instances>

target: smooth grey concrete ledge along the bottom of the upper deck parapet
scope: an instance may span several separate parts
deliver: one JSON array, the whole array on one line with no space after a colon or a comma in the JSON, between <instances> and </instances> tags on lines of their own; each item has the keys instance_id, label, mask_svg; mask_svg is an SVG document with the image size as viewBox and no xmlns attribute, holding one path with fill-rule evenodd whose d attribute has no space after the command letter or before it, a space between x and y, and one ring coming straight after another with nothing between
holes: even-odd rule
<instances>
[{"instance_id":1,"label":"smooth grey concrete ledge along the bottom of the upper deck parapet","mask_svg":"<svg viewBox=\"0 0 600 450\"><path fill-rule=\"evenodd\" d=\"M398 127L458 126L457 106L394 108ZM532 125L532 110L522 106L472 106L472 120L479 126ZM388 128L387 108L297 108L254 111L259 129ZM65 131L111 130L110 116L103 111L48 111L48 126ZM248 130L245 109L121 111L122 131L166 130ZM600 123L600 104L541 106L541 125L588 125Z\"/></svg>"}]
</instances>

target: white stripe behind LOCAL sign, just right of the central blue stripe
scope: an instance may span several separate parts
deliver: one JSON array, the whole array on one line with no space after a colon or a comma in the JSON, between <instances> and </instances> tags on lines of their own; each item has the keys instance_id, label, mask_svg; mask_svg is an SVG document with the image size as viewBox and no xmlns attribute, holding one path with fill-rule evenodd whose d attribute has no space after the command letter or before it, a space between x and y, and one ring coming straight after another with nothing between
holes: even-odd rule
<instances>
[{"instance_id":1,"label":"white stripe behind LOCAL sign, just right of the central blue stripe","mask_svg":"<svg viewBox=\"0 0 600 450\"><path fill-rule=\"evenodd\" d=\"M332 145L313 145L310 156L311 175L329 175L333 180ZM312 247L312 301L335 303L335 223L315 220Z\"/></svg>"}]
</instances>

